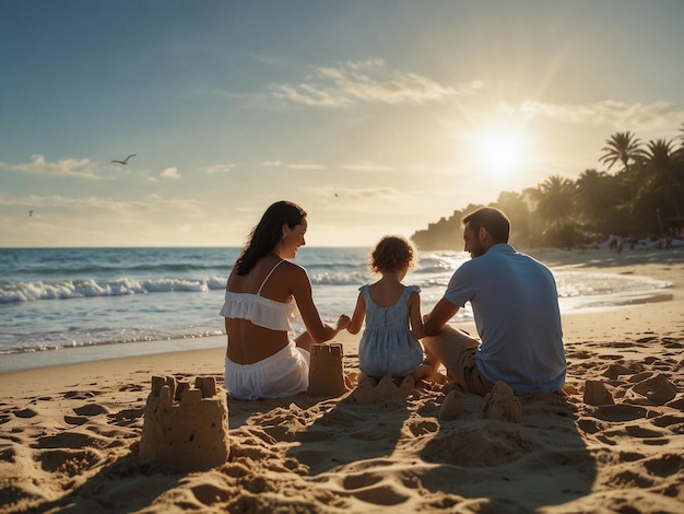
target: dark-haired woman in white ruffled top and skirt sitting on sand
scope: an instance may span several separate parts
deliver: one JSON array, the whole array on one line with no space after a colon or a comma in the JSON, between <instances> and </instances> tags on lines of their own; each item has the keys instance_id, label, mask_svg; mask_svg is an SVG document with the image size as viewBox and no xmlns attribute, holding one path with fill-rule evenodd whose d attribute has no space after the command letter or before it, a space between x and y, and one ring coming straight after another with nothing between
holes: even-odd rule
<instances>
[{"instance_id":1,"label":"dark-haired woman in white ruffled top and skirt sitting on sand","mask_svg":"<svg viewBox=\"0 0 684 514\"><path fill-rule=\"evenodd\" d=\"M309 349L332 339L337 326L323 323L314 304L306 270L288 260L305 245L306 212L290 201L267 209L252 230L228 277L225 317L228 347L225 386L238 399L281 398L305 392L309 384ZM291 323L302 315L306 331L291 341Z\"/></svg>"}]
</instances>

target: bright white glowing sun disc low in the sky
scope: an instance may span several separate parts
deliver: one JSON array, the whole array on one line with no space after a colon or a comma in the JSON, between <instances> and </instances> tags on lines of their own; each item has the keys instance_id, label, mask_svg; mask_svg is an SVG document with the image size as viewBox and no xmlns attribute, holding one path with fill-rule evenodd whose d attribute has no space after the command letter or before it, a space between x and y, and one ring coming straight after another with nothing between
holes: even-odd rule
<instances>
[{"instance_id":1,"label":"bright white glowing sun disc low in the sky","mask_svg":"<svg viewBox=\"0 0 684 514\"><path fill-rule=\"evenodd\" d=\"M482 129L474 139L475 166L493 178L512 178L522 172L528 139L519 128L495 126Z\"/></svg>"}]
</instances>

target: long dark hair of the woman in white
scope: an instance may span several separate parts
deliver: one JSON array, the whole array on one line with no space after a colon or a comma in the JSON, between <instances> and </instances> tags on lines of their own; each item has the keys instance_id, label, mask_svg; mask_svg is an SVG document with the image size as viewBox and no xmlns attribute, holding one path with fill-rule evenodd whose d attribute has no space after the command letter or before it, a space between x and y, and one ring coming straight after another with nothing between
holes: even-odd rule
<instances>
[{"instance_id":1,"label":"long dark hair of the woman in white","mask_svg":"<svg viewBox=\"0 0 684 514\"><path fill-rule=\"evenodd\" d=\"M237 274L247 274L259 259L270 254L283 235L283 224L291 229L300 224L306 211L291 201L276 201L271 205L261 221L255 226L247 238L247 244L235 261Z\"/></svg>"}]
</instances>

